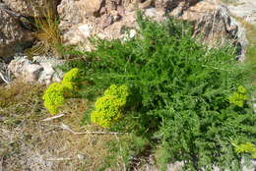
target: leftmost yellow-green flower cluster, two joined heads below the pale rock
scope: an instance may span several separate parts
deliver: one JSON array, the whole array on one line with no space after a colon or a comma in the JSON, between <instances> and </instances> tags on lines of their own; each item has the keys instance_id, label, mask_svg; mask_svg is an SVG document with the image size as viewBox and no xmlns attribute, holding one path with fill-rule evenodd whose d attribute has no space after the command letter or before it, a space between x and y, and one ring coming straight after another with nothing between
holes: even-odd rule
<instances>
[{"instance_id":1,"label":"leftmost yellow-green flower cluster, two joined heads below the pale rock","mask_svg":"<svg viewBox=\"0 0 256 171\"><path fill-rule=\"evenodd\" d=\"M64 75L61 83L53 83L46 88L43 92L42 99L44 106L51 114L57 114L59 112L59 108L65 102L65 96L75 90L78 79L79 69L74 68Z\"/></svg>"}]
</instances>

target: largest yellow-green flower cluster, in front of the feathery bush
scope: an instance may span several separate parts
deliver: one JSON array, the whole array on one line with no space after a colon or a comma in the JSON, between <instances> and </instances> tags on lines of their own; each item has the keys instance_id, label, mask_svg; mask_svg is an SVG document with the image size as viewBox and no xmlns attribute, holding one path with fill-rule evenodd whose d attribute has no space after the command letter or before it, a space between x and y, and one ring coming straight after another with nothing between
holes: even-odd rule
<instances>
[{"instance_id":1,"label":"largest yellow-green flower cluster, in front of the feathery bush","mask_svg":"<svg viewBox=\"0 0 256 171\"><path fill-rule=\"evenodd\" d=\"M96 100L95 111L91 113L92 122L101 127L110 127L123 117L122 109L129 95L126 85L110 85L104 96Z\"/></svg>"}]
</instances>

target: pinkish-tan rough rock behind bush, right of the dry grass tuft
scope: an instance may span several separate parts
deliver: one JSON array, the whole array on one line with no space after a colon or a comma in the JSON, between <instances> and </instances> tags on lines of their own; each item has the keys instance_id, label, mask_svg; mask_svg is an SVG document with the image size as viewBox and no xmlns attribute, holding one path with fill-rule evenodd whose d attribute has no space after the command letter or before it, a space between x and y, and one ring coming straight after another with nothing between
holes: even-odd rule
<instances>
[{"instance_id":1,"label":"pinkish-tan rough rock behind bush, right of the dry grass tuft","mask_svg":"<svg viewBox=\"0 0 256 171\"><path fill-rule=\"evenodd\" d=\"M58 6L58 13L63 41L68 45L82 45L86 50L90 50L92 47L88 38L92 35L107 39L122 38L125 36L126 28L137 28L138 8L156 20L162 19L164 10L153 8L153 2L62 0Z\"/></svg>"}]
</instances>

